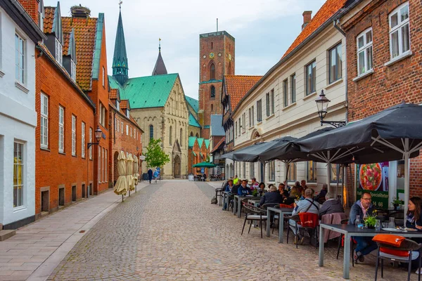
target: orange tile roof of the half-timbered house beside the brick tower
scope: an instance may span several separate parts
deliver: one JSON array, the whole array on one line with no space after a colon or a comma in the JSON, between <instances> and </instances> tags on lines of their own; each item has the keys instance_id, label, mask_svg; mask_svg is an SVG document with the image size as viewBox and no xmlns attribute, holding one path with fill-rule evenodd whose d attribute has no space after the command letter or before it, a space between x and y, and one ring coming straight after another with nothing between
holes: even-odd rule
<instances>
[{"instance_id":1,"label":"orange tile roof of the half-timbered house beside the brick tower","mask_svg":"<svg viewBox=\"0 0 422 281\"><path fill-rule=\"evenodd\" d=\"M243 98L261 78L262 76L224 75L224 89L226 90L226 95L230 96L232 111L236 105L238 105L239 101L241 101L241 98Z\"/></svg>"}]
</instances>

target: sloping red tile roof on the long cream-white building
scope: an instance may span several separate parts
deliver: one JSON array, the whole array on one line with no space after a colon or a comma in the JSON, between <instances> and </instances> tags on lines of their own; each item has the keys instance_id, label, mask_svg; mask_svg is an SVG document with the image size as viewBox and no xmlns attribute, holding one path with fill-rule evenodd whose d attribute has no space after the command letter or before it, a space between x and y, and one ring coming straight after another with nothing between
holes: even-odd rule
<instances>
[{"instance_id":1,"label":"sloping red tile roof on the long cream-white building","mask_svg":"<svg viewBox=\"0 0 422 281\"><path fill-rule=\"evenodd\" d=\"M314 33L318 27L324 24L329 18L337 13L340 8L343 8L347 0L327 0L324 5L314 15L314 18L307 24L307 26L300 32L299 36L293 41L293 44L284 53L283 58L293 51L299 44L301 44L309 35Z\"/></svg>"}]
</instances>

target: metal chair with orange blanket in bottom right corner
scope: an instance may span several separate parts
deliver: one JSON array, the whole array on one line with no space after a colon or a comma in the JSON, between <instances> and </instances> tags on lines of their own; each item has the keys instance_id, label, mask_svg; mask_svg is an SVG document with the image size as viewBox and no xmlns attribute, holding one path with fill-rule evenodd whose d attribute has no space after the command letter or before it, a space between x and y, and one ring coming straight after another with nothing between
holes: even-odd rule
<instances>
[{"instance_id":1,"label":"metal chair with orange blanket in bottom right corner","mask_svg":"<svg viewBox=\"0 0 422 281\"><path fill-rule=\"evenodd\" d=\"M409 263L407 268L407 280L410 280L411 274L411 261L418 259L418 268L421 268L421 248L422 244L418 244L410 239L403 240L400 247L394 247L391 244L385 244L382 242L376 242L378 244L376 267L375 267L375 281L378 277L378 266L381 260L381 278L383 278L384 260L390 261L402 261ZM404 256L402 254L408 254ZM418 281L421 281L421 272L418 273Z\"/></svg>"}]
</instances>

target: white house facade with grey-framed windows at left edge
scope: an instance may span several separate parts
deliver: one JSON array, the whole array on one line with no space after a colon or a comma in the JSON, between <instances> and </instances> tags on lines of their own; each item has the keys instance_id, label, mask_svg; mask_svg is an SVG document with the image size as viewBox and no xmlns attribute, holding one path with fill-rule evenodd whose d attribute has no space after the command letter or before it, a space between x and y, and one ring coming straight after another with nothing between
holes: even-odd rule
<instances>
[{"instance_id":1,"label":"white house facade with grey-framed windows at left edge","mask_svg":"<svg viewBox=\"0 0 422 281\"><path fill-rule=\"evenodd\" d=\"M1 230L34 221L34 53L35 44L44 39L44 34L19 2L11 0L0 2L0 28Z\"/></svg>"}]
</instances>

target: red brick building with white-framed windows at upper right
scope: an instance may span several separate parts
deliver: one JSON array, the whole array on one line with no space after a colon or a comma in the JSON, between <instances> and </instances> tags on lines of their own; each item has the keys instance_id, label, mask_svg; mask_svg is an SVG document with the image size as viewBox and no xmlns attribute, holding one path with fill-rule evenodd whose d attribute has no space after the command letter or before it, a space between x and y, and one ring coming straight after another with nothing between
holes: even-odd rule
<instances>
[{"instance_id":1,"label":"red brick building with white-framed windows at upper right","mask_svg":"<svg viewBox=\"0 0 422 281\"><path fill-rule=\"evenodd\" d=\"M347 41L348 121L402 103L422 103L419 0L360 1L343 16ZM397 162L397 188L404 177ZM422 159L411 159L410 196L422 195Z\"/></svg>"}]
</instances>

